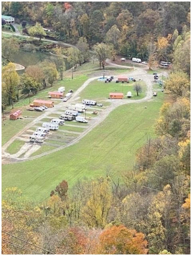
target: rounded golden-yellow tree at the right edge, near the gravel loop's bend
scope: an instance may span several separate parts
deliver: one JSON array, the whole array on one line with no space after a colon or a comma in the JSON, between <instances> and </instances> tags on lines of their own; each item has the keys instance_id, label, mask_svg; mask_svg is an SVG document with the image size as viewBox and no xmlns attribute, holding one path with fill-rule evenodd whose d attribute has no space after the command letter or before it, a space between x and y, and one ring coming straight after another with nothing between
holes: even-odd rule
<instances>
[{"instance_id":1,"label":"rounded golden-yellow tree at the right edge, near the gravel loop's bend","mask_svg":"<svg viewBox=\"0 0 192 256\"><path fill-rule=\"evenodd\" d=\"M189 78L183 71L171 73L169 78L165 81L166 90L172 92L177 97L183 96L185 91L189 90L189 86Z\"/></svg>"}]
</instances>

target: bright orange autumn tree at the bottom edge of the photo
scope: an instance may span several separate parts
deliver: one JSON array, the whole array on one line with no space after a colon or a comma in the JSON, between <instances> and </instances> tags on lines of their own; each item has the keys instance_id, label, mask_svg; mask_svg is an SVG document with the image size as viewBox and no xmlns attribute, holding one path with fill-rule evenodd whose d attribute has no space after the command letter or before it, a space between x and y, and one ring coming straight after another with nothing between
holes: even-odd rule
<instances>
[{"instance_id":1,"label":"bright orange autumn tree at the bottom edge of the photo","mask_svg":"<svg viewBox=\"0 0 192 256\"><path fill-rule=\"evenodd\" d=\"M147 254L148 242L143 233L123 225L112 226L99 236L99 254Z\"/></svg>"}]
</instances>

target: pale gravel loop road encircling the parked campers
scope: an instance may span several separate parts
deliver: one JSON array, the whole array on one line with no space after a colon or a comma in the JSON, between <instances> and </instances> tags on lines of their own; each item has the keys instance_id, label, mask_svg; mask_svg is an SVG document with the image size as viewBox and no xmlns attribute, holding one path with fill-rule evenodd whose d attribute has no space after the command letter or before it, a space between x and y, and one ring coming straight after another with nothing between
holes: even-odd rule
<instances>
[{"instance_id":1,"label":"pale gravel loop road encircling the parked campers","mask_svg":"<svg viewBox=\"0 0 192 256\"><path fill-rule=\"evenodd\" d=\"M109 63L109 64L111 64L111 63ZM114 64L113 66L121 66L121 65ZM22 129L15 136L13 136L7 143L5 143L2 146L2 156L5 157L5 158L8 158L9 160L12 160L13 162L15 162L15 160L17 162L20 162L20 161L32 160L32 159L37 159L39 157L43 157L44 155L48 155L50 153L56 152L58 150L61 150L61 149L64 149L66 147L69 147L71 145L76 144L80 139L82 139L85 135L87 135L92 129L94 129L101 122L103 122L105 120L105 118L110 114L110 112L113 111L116 107L124 105L124 104L141 103L141 102L149 101L153 97L153 91L152 91L152 89L153 89L153 76L151 74L148 74L147 71L143 68L135 68L135 70L132 71L131 73L129 73L128 75L133 76L136 80L141 79L142 81L144 81L146 83L147 90L146 90L146 96L145 97L143 97L142 99L139 99L139 100L131 100L131 99L112 99L112 100L109 100L109 99L107 99L106 101L110 101L111 105L109 107L107 107L105 110L103 110L100 113L100 115L98 116L98 118L95 119L95 121L93 121L92 124L90 124L89 127L87 129L85 129L85 131L80 134L79 137L75 138L69 144L58 147L58 148L53 149L53 150L50 150L48 152L44 152L44 153L36 155L34 157L28 157L28 158L23 158L23 159L21 159L21 158L20 159L18 159L18 158L17 159L13 159L13 158L11 159L11 155L9 156L9 154L7 152L5 152L5 150L13 142L13 140L15 140L16 137L20 136L25 130L30 129L31 126L33 126L36 122L40 121L42 118L45 118L48 115L50 115L52 112L55 112L56 110L59 110L59 108L61 106L62 107L67 106L69 103L71 103L73 100L75 100L78 97L79 93L81 91L83 91L89 85L90 82L97 79L98 77L89 78L89 79L87 79L87 81L84 82L84 84L82 84L82 86L80 86L79 89L77 89L76 92L74 92L73 96L71 97L71 99L69 99L69 101L61 102L61 103L57 104L54 108L48 109L48 111L44 112L41 116L34 119L30 124L25 126L24 129ZM159 74L159 75L161 75L161 74Z\"/></svg>"}]
</instances>

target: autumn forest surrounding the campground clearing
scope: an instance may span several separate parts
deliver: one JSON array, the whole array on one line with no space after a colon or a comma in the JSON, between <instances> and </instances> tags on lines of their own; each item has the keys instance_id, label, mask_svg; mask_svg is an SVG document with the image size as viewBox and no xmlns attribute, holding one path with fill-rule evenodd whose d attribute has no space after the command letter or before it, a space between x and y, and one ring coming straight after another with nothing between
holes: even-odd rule
<instances>
[{"instance_id":1,"label":"autumn forest surrounding the campground clearing","mask_svg":"<svg viewBox=\"0 0 192 256\"><path fill-rule=\"evenodd\" d=\"M172 63L156 137L146 137L133 168L114 176L108 167L102 177L77 180L73 187L61 180L42 202L6 188L2 253L190 254L190 3L3 2L2 13L25 21L25 35L39 37L2 38L3 110L13 107L19 90L27 94L30 84L36 93L52 86L67 67L93 56L103 69L105 59L116 55L146 60L151 70L164 56ZM55 46L43 37L77 48ZM11 49L49 47L56 55L52 62L28 66L20 76L15 72Z\"/></svg>"}]
</instances>

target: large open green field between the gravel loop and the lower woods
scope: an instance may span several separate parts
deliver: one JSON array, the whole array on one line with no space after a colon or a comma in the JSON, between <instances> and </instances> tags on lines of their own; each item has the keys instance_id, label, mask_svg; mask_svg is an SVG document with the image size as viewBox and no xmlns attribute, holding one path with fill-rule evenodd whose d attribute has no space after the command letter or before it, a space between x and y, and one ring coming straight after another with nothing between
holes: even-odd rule
<instances>
[{"instance_id":1,"label":"large open green field between the gravel loop and the lower woods","mask_svg":"<svg viewBox=\"0 0 192 256\"><path fill-rule=\"evenodd\" d=\"M155 136L163 96L159 92L152 101L118 107L77 144L38 159L3 165L2 188L18 187L27 197L42 201L63 179L72 188L78 179L105 175L107 168L115 176L131 170L146 135Z\"/></svg>"}]
</instances>

